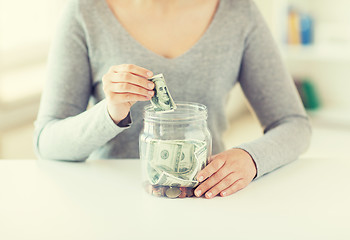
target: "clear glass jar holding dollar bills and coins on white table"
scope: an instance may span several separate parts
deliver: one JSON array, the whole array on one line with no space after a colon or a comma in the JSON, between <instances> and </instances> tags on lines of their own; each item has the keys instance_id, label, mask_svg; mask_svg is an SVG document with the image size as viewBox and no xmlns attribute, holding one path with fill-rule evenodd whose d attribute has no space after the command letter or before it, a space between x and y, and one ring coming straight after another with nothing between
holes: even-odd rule
<instances>
[{"instance_id":1,"label":"clear glass jar holding dollar bills and coins on white table","mask_svg":"<svg viewBox=\"0 0 350 240\"><path fill-rule=\"evenodd\" d=\"M179 102L173 112L144 108L144 127L139 137L143 184L157 197L192 197L197 174L208 163L212 140L207 108Z\"/></svg>"}]
</instances>

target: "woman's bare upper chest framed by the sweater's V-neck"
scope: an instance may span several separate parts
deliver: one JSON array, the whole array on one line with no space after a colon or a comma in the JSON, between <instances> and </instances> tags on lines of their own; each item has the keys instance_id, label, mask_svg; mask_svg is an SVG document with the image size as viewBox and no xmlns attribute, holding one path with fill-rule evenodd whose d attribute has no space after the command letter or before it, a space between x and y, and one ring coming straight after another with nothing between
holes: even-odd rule
<instances>
[{"instance_id":1,"label":"woman's bare upper chest framed by the sweater's V-neck","mask_svg":"<svg viewBox=\"0 0 350 240\"><path fill-rule=\"evenodd\" d=\"M118 2L118 1L117 1ZM173 59L189 51L209 28L218 0L202 1L188 7L162 13L138 11L109 4L114 17L136 42L164 58Z\"/></svg>"}]
</instances>

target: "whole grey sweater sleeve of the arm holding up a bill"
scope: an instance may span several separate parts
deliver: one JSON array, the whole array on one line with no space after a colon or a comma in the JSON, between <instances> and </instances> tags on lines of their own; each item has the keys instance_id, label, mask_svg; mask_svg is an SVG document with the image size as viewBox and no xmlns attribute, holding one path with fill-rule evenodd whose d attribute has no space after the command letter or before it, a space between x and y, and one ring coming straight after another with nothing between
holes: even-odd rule
<instances>
[{"instance_id":1,"label":"whole grey sweater sleeve of the arm holding up a bill","mask_svg":"<svg viewBox=\"0 0 350 240\"><path fill-rule=\"evenodd\" d=\"M92 87L79 1L68 1L51 46L46 84L35 121L38 157L83 161L129 127L113 122L105 100L87 110Z\"/></svg>"}]
</instances>

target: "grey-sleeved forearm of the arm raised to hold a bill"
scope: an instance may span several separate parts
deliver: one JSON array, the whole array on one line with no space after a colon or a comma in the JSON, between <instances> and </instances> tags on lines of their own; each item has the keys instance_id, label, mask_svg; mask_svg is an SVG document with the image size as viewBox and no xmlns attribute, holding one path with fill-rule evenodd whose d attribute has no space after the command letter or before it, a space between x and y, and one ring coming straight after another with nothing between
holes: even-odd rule
<instances>
[{"instance_id":1,"label":"grey-sleeved forearm of the arm raised to hold a bill","mask_svg":"<svg viewBox=\"0 0 350 240\"><path fill-rule=\"evenodd\" d=\"M41 116L35 123L36 153L45 159L83 161L126 128L109 117L105 100L65 119Z\"/></svg>"}]
</instances>

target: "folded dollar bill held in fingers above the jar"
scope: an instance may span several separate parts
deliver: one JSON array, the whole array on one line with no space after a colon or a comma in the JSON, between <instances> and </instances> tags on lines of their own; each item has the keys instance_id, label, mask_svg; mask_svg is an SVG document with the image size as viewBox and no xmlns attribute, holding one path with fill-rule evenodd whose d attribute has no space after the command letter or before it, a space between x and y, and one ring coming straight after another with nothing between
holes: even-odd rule
<instances>
[{"instance_id":1,"label":"folded dollar bill held in fingers above the jar","mask_svg":"<svg viewBox=\"0 0 350 240\"><path fill-rule=\"evenodd\" d=\"M172 112L176 109L176 104L170 95L163 74L157 74L149 79L155 85L154 96L151 104L156 112Z\"/></svg>"}]
</instances>

